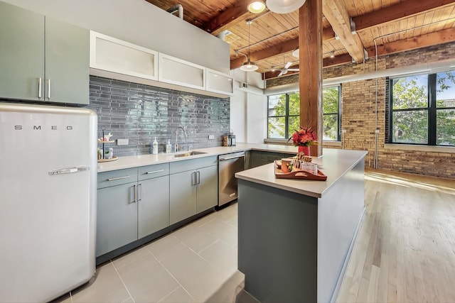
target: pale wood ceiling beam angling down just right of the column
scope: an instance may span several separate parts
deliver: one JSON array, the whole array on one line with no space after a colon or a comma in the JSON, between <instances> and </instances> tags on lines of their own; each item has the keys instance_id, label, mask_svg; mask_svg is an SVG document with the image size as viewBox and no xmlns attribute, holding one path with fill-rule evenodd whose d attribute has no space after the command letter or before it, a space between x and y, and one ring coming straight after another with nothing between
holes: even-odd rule
<instances>
[{"instance_id":1,"label":"pale wood ceiling beam angling down just right of the column","mask_svg":"<svg viewBox=\"0 0 455 303\"><path fill-rule=\"evenodd\" d=\"M338 35L341 43L343 43L355 62L363 62L363 43L357 34L353 34L350 31L350 17L344 2L340 0L325 0L322 10L333 31Z\"/></svg>"}]
</instances>

